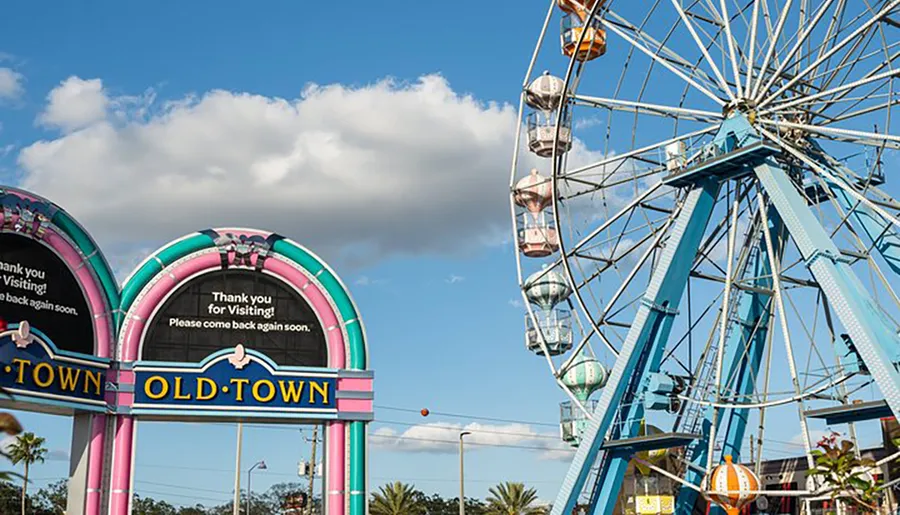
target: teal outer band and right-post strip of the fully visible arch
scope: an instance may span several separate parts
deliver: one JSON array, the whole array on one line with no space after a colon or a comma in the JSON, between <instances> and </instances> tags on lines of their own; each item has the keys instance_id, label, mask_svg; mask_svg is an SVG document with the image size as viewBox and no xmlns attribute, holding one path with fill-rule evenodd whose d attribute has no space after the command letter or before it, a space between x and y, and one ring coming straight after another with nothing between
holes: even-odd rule
<instances>
[{"instance_id":1,"label":"teal outer band and right-post strip of the fully visible arch","mask_svg":"<svg viewBox=\"0 0 900 515\"><path fill-rule=\"evenodd\" d=\"M234 229L234 232L240 232L240 230ZM125 313L134 304L137 296L157 274L179 259L215 246L215 242L208 235L194 233L175 240L151 254L132 273L122 287L122 296L116 317L116 330L118 331L121 328ZM350 370L366 370L368 366L368 348L362 320L359 318L359 312L344 283L318 256L291 240L280 239L276 241L272 246L272 251L294 261L310 275L316 277L322 288L337 306L338 315L346 328L347 368ZM365 515L366 423L350 422L348 425L350 440L349 511L351 515Z\"/></svg>"}]
</instances>

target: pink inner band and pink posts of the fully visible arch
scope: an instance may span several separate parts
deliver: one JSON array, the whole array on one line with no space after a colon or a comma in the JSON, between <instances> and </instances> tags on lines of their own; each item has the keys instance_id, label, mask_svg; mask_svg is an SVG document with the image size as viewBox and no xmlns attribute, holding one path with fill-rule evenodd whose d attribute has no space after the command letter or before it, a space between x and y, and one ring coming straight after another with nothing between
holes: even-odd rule
<instances>
[{"instance_id":1,"label":"pink inner band and pink posts of the fully visible arch","mask_svg":"<svg viewBox=\"0 0 900 515\"><path fill-rule=\"evenodd\" d=\"M224 232L224 231L223 231ZM245 230L228 230L243 235L263 235L265 233ZM253 257L254 265L256 257ZM160 272L160 278L141 298L128 318L128 327L120 335L120 360L134 362L138 359L141 338L146 322L153 315L153 310L163 299L189 277L221 268L219 254L208 252L190 258L178 266ZM306 275L291 265L278 259L266 259L263 268L276 277L293 285L309 301L321 318L328 334L328 366L344 368L346 364L346 342L341 331L340 319L328 302L328 297ZM133 379L133 375L130 375ZM346 448L346 426L343 422L332 422L328 425L328 463L337 466L328 471L328 512L343 515L345 507L344 455ZM116 435L113 442L112 456L112 491L110 494L110 515L128 515L131 500L131 479L134 472L134 417L120 416L116 424Z\"/></svg>"}]
</instances>

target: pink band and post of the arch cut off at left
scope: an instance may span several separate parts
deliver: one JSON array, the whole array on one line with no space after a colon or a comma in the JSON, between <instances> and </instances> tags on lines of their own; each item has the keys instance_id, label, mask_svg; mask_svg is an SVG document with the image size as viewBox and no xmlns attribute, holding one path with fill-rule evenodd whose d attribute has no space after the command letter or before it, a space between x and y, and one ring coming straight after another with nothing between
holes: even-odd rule
<instances>
[{"instance_id":1,"label":"pink band and post of the arch cut off at left","mask_svg":"<svg viewBox=\"0 0 900 515\"><path fill-rule=\"evenodd\" d=\"M19 195L19 192L16 192ZM41 201L36 197L29 195L19 195L29 200ZM11 224L18 221L19 216L13 215ZM2 214L0 214L0 224L2 224ZM106 310L106 296L101 291L97 280L91 275L90 266L86 258L82 258L81 253L76 249L68 239L66 239L55 226L47 227L44 234L43 242L56 251L63 261L73 271L78 282L84 288L91 314L94 318L94 335L95 348L94 355L100 358L109 358L112 350L112 331L110 330L110 313ZM85 515L99 515L101 501L101 487L103 481L103 442L106 432L106 415L94 415L91 423L91 438L88 451L88 484L85 495Z\"/></svg>"}]
</instances>

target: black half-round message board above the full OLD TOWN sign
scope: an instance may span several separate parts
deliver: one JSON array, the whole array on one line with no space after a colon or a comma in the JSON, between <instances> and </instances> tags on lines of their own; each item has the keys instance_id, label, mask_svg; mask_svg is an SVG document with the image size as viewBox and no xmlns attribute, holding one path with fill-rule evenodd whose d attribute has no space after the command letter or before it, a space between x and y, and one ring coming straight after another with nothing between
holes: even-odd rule
<instances>
[{"instance_id":1,"label":"black half-round message board above the full OLD TOWN sign","mask_svg":"<svg viewBox=\"0 0 900 515\"><path fill-rule=\"evenodd\" d=\"M242 345L279 366L325 367L322 324L291 286L263 272L224 269L187 281L148 324L141 361L199 363Z\"/></svg>"}]
</instances>

